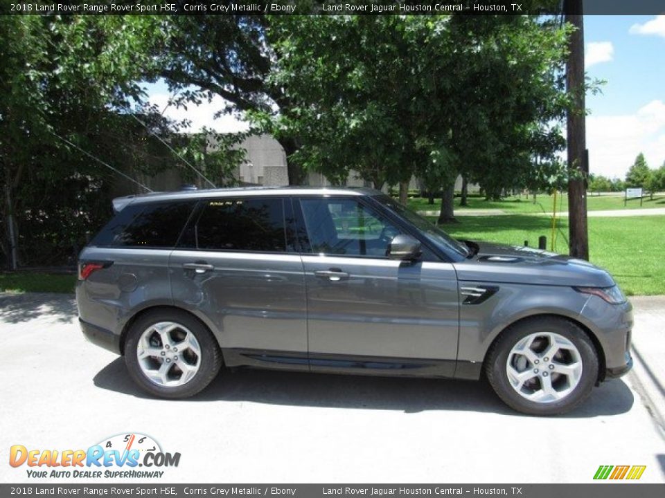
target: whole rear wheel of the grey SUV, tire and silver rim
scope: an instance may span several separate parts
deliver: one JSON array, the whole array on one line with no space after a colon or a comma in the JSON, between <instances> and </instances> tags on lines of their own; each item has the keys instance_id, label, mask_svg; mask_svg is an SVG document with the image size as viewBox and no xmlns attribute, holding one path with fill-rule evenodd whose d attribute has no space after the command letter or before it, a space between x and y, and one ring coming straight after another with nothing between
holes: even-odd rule
<instances>
[{"instance_id":1,"label":"whole rear wheel of the grey SUV, tire and silver rim","mask_svg":"<svg viewBox=\"0 0 665 498\"><path fill-rule=\"evenodd\" d=\"M188 398L218 375L217 340L195 317L177 309L151 311L127 332L125 364L144 391L160 398Z\"/></svg>"}]
</instances>

